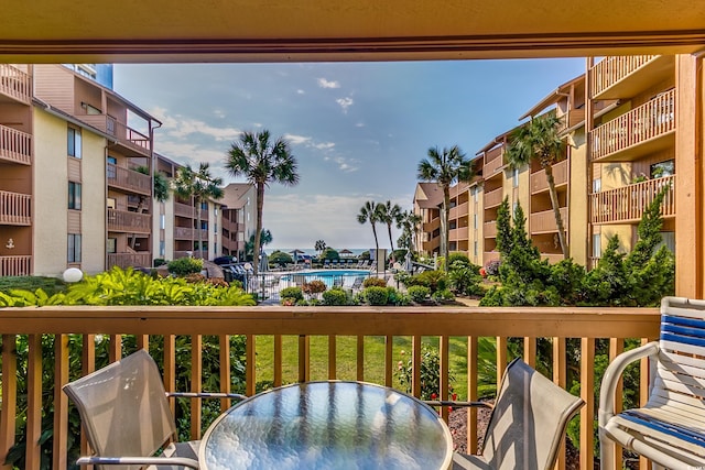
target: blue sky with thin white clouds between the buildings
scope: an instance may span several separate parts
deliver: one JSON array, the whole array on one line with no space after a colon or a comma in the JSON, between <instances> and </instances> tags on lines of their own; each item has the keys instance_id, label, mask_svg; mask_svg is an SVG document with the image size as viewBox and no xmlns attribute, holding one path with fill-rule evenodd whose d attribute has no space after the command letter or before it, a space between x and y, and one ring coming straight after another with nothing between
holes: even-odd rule
<instances>
[{"instance_id":1,"label":"blue sky with thin white clouds between the buildings","mask_svg":"<svg viewBox=\"0 0 705 470\"><path fill-rule=\"evenodd\" d=\"M115 90L163 122L156 152L225 170L242 131L283 136L299 163L294 187L264 196L268 248L373 248L366 200L413 207L430 147L474 156L519 117L581 75L584 58L297 64L118 64ZM394 247L399 231L392 232ZM389 248L378 225L380 248Z\"/></svg>"}]
</instances>

